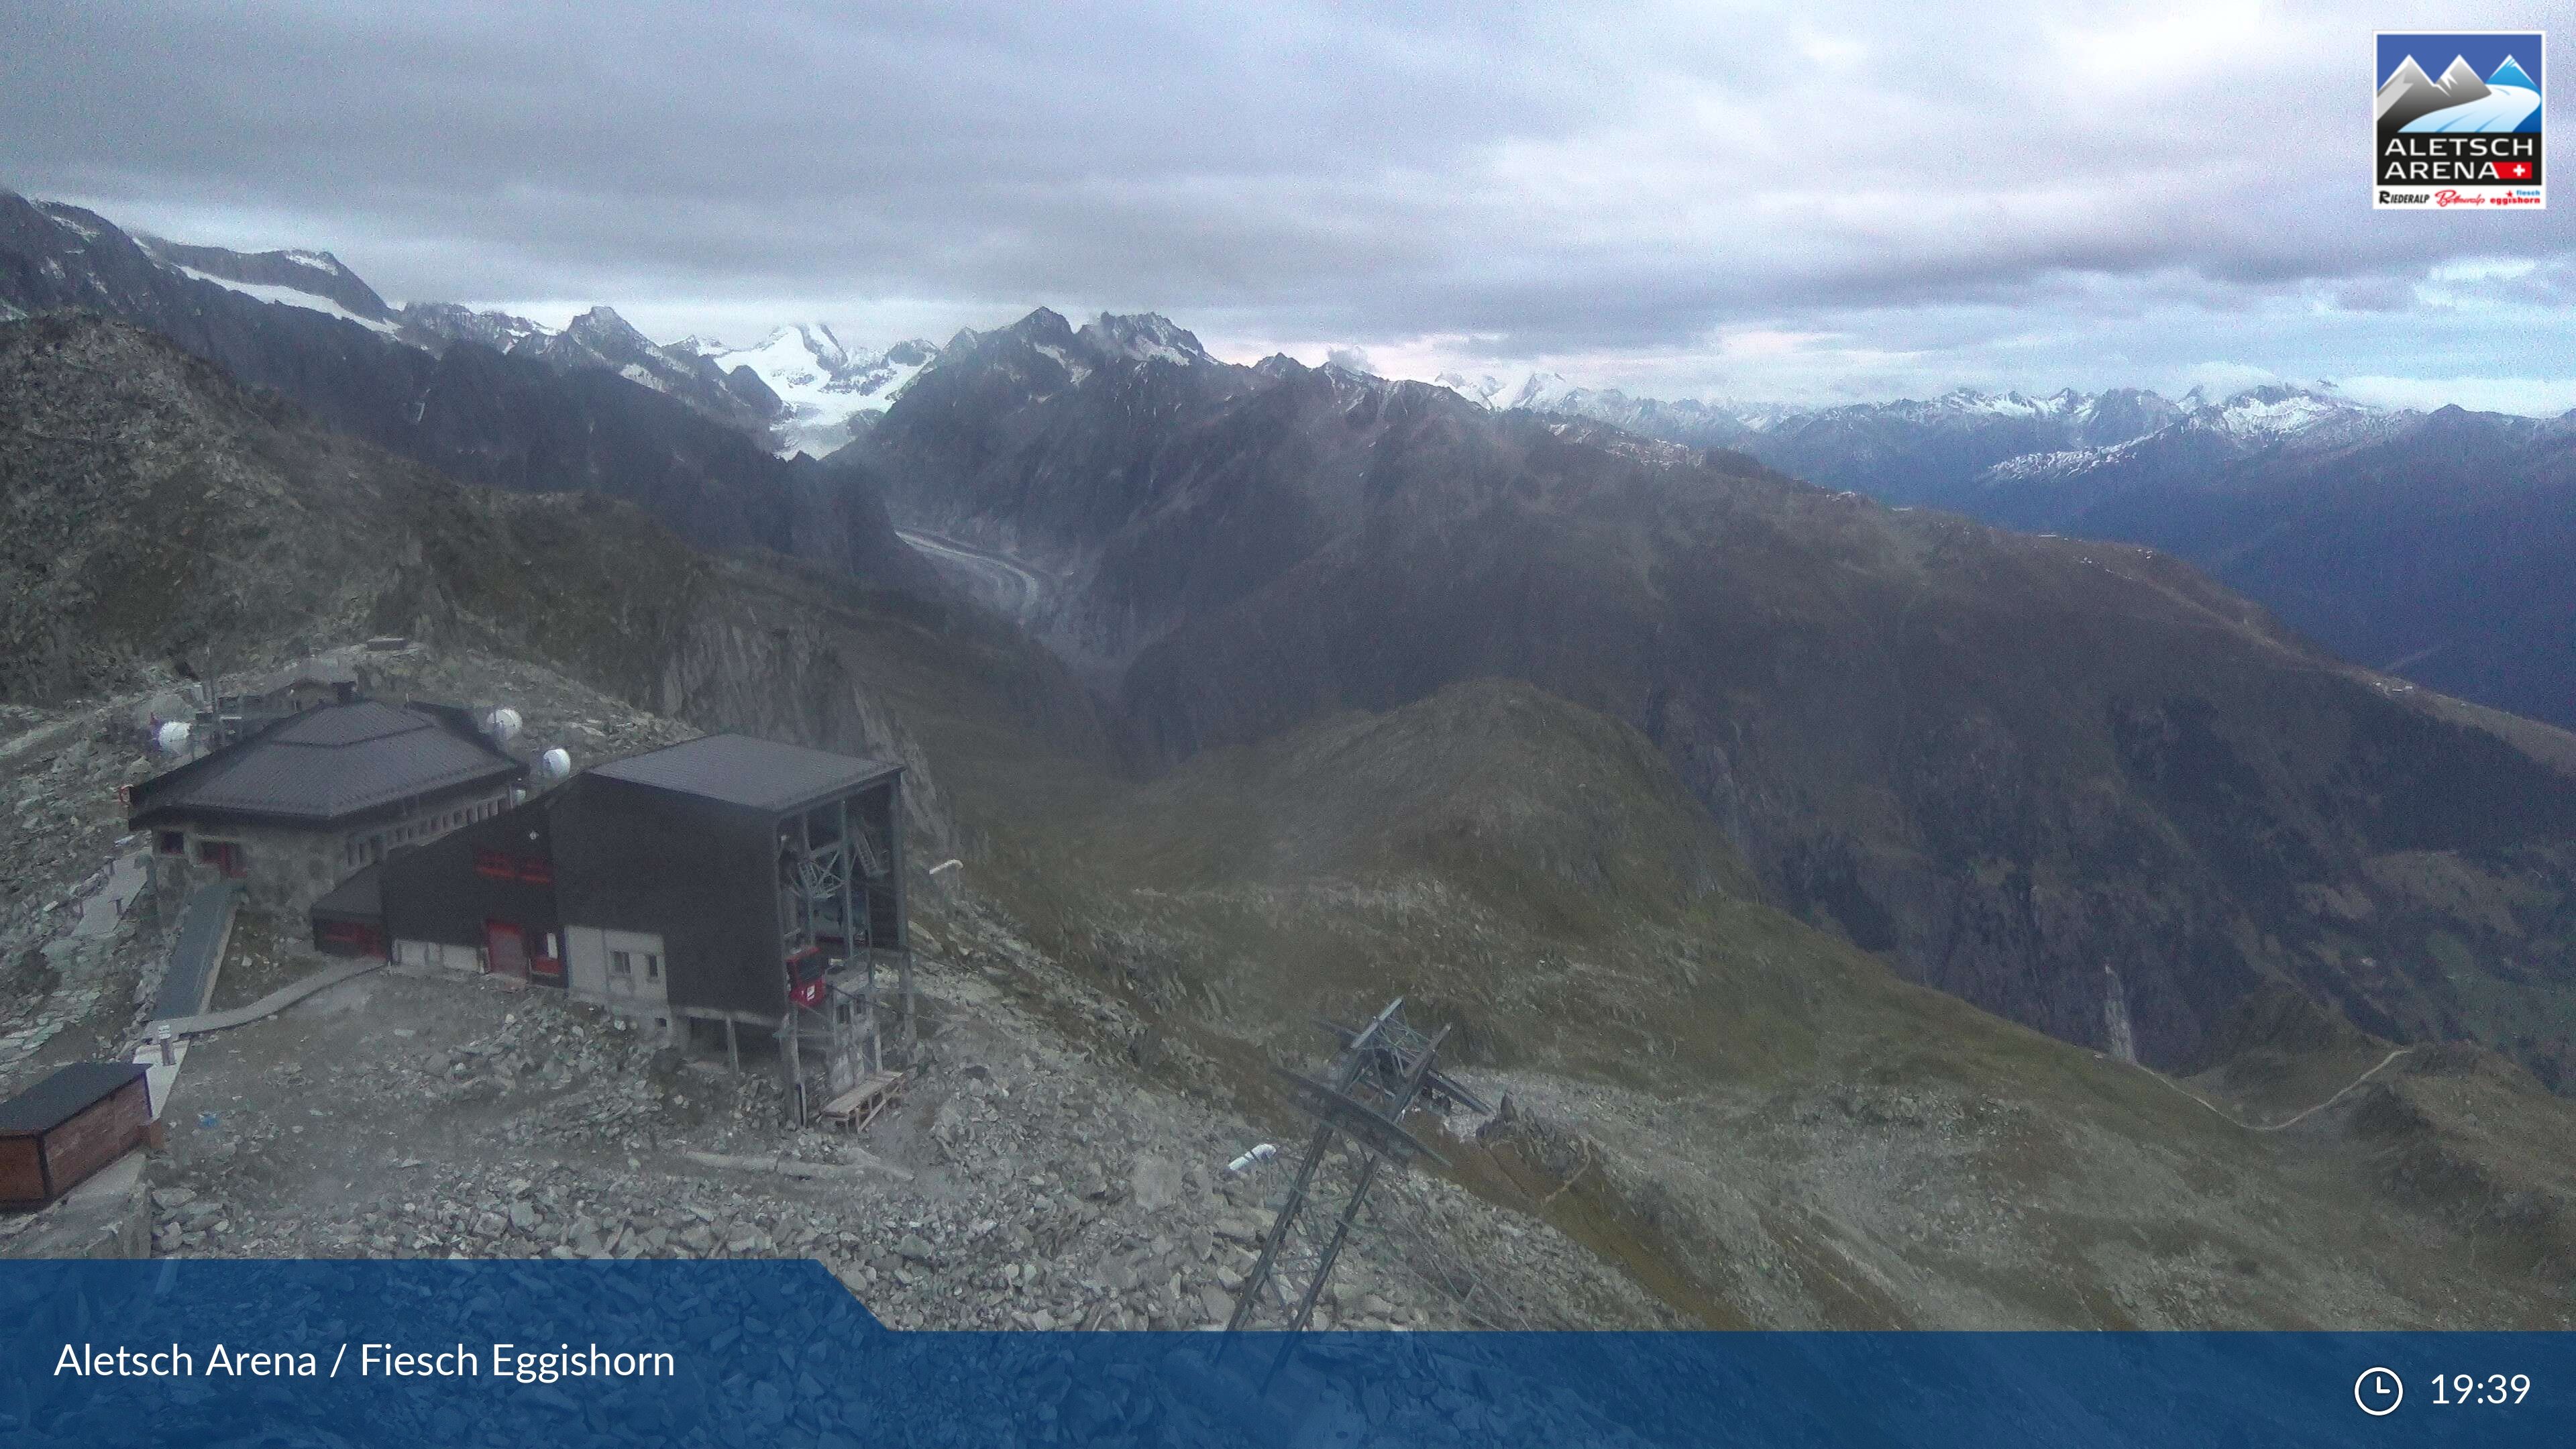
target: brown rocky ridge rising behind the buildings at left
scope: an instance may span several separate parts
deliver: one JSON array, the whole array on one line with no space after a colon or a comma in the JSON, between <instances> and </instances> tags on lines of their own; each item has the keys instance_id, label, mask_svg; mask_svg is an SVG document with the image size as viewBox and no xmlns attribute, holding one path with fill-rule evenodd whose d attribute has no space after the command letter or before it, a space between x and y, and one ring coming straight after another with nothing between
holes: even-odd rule
<instances>
[{"instance_id":1,"label":"brown rocky ridge rising behind the buildings at left","mask_svg":"<svg viewBox=\"0 0 2576 1449\"><path fill-rule=\"evenodd\" d=\"M95 315L0 322L0 523L8 704L415 634L544 660L701 730L902 758L935 841L956 835L935 750L889 691L914 719L1105 748L1056 660L922 598L909 565L889 583L708 557L598 492L459 487Z\"/></svg>"}]
</instances>

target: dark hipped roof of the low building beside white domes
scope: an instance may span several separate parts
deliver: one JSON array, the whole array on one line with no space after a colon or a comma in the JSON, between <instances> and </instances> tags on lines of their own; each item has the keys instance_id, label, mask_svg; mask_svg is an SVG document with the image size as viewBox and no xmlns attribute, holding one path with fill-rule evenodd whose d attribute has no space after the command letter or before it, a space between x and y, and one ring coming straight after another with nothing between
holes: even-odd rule
<instances>
[{"instance_id":1,"label":"dark hipped roof of the low building beside white domes","mask_svg":"<svg viewBox=\"0 0 2576 1449\"><path fill-rule=\"evenodd\" d=\"M523 768L430 712L361 699L289 714L250 740L139 784L131 822L165 812L327 822Z\"/></svg>"}]
</instances>

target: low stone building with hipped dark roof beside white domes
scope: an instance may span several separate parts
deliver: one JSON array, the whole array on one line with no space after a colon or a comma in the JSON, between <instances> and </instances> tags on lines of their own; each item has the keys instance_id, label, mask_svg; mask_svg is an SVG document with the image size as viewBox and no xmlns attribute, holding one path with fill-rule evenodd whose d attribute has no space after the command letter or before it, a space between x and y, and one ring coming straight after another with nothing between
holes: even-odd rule
<instances>
[{"instance_id":1,"label":"low stone building with hipped dark roof beside white domes","mask_svg":"<svg viewBox=\"0 0 2576 1449\"><path fill-rule=\"evenodd\" d=\"M466 709L353 699L278 717L129 794L155 884L245 882L263 908L304 910L389 851L510 804L528 766Z\"/></svg>"}]
</instances>

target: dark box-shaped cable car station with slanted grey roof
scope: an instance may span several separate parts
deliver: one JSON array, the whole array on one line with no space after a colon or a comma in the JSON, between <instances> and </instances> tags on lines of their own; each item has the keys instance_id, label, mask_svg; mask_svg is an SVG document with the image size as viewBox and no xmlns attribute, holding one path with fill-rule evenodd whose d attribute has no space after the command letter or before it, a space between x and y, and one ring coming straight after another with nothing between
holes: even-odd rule
<instances>
[{"instance_id":1,"label":"dark box-shaped cable car station with slanted grey roof","mask_svg":"<svg viewBox=\"0 0 2576 1449\"><path fill-rule=\"evenodd\" d=\"M647 1026L781 1029L904 951L904 771L708 735L562 786L353 879L317 938L526 977Z\"/></svg>"}]
</instances>

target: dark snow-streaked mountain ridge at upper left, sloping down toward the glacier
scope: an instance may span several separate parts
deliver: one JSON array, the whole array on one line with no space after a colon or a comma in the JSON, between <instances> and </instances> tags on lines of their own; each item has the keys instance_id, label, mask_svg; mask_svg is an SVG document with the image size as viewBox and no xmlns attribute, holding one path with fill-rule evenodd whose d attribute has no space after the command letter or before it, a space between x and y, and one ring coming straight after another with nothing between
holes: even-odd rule
<instances>
[{"instance_id":1,"label":"dark snow-streaked mountain ridge at upper left, sloping down toward the glacier","mask_svg":"<svg viewBox=\"0 0 2576 1449\"><path fill-rule=\"evenodd\" d=\"M781 459L757 374L654 348L616 312L551 333L389 307L327 253L219 253L0 193L0 320L80 307L160 333L325 425L518 492L605 492L703 549L773 549L943 593L884 503Z\"/></svg>"}]
</instances>

